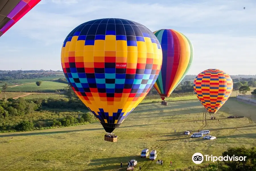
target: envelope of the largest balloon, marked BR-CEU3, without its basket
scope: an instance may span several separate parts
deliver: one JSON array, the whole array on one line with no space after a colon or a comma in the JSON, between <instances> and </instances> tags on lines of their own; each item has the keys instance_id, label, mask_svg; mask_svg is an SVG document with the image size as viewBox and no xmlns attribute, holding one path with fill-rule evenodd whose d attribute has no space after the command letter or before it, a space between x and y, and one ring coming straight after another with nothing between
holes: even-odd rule
<instances>
[{"instance_id":1,"label":"envelope of the largest balloon, marked BR-CEU3, without its basket","mask_svg":"<svg viewBox=\"0 0 256 171\"><path fill-rule=\"evenodd\" d=\"M162 50L156 36L139 23L97 19L68 34L61 64L79 99L112 133L154 85Z\"/></svg>"}]
</instances>

